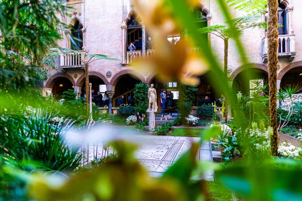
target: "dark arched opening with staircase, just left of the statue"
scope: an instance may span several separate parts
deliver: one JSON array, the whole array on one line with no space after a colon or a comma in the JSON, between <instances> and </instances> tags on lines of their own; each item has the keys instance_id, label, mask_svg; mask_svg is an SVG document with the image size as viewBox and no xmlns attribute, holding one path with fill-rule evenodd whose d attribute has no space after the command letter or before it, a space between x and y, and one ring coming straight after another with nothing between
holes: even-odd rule
<instances>
[{"instance_id":1,"label":"dark arched opening with staircase, just left of the statue","mask_svg":"<svg viewBox=\"0 0 302 201\"><path fill-rule=\"evenodd\" d=\"M127 104L129 96L131 97L131 99L133 99L134 87L139 82L141 82L140 78L138 78L133 74L124 74L120 78L118 78L118 81L114 89L114 97L112 99L113 102L112 105L114 107L117 107L116 102L121 95L124 96L124 104Z\"/></svg>"}]
</instances>

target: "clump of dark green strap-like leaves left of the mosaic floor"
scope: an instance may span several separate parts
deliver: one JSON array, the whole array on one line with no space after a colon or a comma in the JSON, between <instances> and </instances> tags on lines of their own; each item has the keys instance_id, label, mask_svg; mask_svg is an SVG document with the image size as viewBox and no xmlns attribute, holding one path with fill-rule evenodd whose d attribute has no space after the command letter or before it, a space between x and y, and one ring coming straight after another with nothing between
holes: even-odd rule
<instances>
[{"instance_id":1,"label":"clump of dark green strap-like leaves left of the mosaic floor","mask_svg":"<svg viewBox=\"0 0 302 201\"><path fill-rule=\"evenodd\" d=\"M71 147L63 139L64 133L74 122L63 119L57 125L50 124L51 114L44 111L32 113L28 119L22 116L0 118L0 154L5 159L18 162L35 162L41 168L55 171L73 170L79 165L79 147ZM68 126L63 127L61 123ZM14 133L14 134L12 134ZM54 134L56 133L56 134Z\"/></svg>"}]
</instances>

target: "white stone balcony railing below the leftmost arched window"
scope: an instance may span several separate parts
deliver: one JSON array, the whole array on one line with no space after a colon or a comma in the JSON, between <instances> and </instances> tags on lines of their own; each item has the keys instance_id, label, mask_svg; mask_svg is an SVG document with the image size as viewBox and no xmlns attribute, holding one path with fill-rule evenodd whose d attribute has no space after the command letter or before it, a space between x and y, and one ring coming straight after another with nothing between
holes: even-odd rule
<instances>
[{"instance_id":1,"label":"white stone balcony railing below the leftmost arched window","mask_svg":"<svg viewBox=\"0 0 302 201\"><path fill-rule=\"evenodd\" d=\"M60 55L61 68L82 68L84 67L81 59L86 56L85 51L66 52Z\"/></svg>"}]
</instances>

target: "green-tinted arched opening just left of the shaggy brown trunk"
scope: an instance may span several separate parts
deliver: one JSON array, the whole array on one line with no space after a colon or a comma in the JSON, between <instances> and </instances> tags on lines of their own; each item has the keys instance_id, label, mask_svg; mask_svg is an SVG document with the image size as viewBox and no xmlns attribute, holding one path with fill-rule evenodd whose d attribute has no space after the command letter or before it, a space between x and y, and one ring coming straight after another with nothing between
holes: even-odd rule
<instances>
[{"instance_id":1,"label":"green-tinted arched opening just left of the shaggy brown trunk","mask_svg":"<svg viewBox=\"0 0 302 201\"><path fill-rule=\"evenodd\" d=\"M249 79L246 79L246 75L249 75ZM233 81L233 91L235 93L241 91L243 94L249 95L253 90L253 80L268 80L268 74L259 68L243 70Z\"/></svg>"}]
</instances>

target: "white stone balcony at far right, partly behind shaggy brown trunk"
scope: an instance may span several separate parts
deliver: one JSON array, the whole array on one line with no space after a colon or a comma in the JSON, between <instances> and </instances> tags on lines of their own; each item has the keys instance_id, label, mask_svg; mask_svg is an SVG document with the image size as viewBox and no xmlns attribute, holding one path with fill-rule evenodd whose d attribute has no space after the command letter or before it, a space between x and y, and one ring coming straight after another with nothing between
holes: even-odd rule
<instances>
[{"instance_id":1,"label":"white stone balcony at far right, partly behind shaggy brown trunk","mask_svg":"<svg viewBox=\"0 0 302 201\"><path fill-rule=\"evenodd\" d=\"M296 56L295 35L279 35L278 58L285 57L288 61L293 61ZM262 61L267 62L268 59L268 39L265 36L262 39Z\"/></svg>"}]
</instances>

